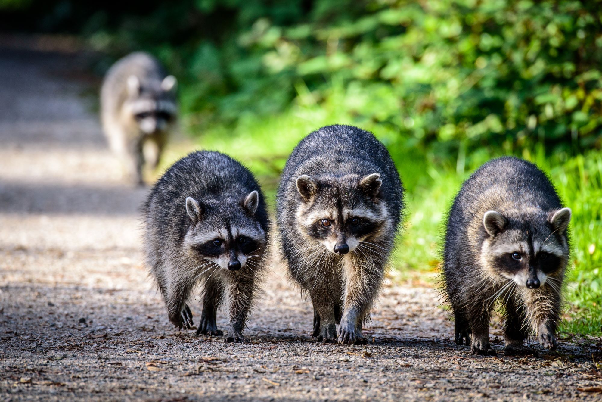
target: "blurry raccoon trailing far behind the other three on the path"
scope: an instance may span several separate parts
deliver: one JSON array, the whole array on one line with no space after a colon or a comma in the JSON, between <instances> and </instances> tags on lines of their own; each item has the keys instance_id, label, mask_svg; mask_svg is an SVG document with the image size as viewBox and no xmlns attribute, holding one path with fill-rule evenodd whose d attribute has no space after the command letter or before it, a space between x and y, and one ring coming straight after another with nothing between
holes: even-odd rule
<instances>
[{"instance_id":1,"label":"blurry raccoon trailing far behind the other three on the path","mask_svg":"<svg viewBox=\"0 0 602 402\"><path fill-rule=\"evenodd\" d=\"M176 78L151 55L129 54L108 70L101 88L102 126L134 184L143 184L144 162L157 166L177 114Z\"/></svg>"}]
</instances>

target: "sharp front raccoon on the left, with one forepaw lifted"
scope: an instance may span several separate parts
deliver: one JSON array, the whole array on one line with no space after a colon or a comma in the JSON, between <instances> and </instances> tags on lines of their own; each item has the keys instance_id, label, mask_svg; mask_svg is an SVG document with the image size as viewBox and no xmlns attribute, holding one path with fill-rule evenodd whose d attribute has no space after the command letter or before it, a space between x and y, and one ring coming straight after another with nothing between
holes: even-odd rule
<instances>
[{"instance_id":1,"label":"sharp front raccoon on the left, with one forepaw lifted","mask_svg":"<svg viewBox=\"0 0 602 402\"><path fill-rule=\"evenodd\" d=\"M172 324L193 326L187 301L202 283L197 335L223 335L216 312L225 301L225 341L245 342L268 244L264 196L252 173L222 153L193 152L152 188L143 220L146 261Z\"/></svg>"}]
</instances>

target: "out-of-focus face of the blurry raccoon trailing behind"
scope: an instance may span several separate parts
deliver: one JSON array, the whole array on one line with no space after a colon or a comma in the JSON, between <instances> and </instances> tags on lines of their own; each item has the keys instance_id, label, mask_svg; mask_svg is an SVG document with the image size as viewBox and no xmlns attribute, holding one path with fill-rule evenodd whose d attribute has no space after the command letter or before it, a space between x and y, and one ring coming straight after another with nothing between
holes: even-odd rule
<instances>
[{"instance_id":1,"label":"out-of-focus face of the blurry raccoon trailing behind","mask_svg":"<svg viewBox=\"0 0 602 402\"><path fill-rule=\"evenodd\" d=\"M160 84L141 84L132 75L128 78L128 100L124 104L130 118L144 134L167 131L174 122L178 107L174 98L176 79L170 75Z\"/></svg>"}]
</instances>

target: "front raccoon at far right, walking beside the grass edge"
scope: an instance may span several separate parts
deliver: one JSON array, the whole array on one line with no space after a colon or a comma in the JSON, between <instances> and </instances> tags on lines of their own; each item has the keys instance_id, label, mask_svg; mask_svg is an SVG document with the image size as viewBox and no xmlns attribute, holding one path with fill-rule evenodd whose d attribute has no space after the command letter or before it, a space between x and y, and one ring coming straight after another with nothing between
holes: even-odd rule
<instances>
[{"instance_id":1,"label":"front raccoon at far right, walking beside the grass edge","mask_svg":"<svg viewBox=\"0 0 602 402\"><path fill-rule=\"evenodd\" d=\"M444 289L456 326L456 344L495 355L489 317L504 307L504 354L533 353L530 333L556 348L556 323L569 259L563 208L550 179L536 165L512 157L484 164L464 183L448 214Z\"/></svg>"}]
</instances>

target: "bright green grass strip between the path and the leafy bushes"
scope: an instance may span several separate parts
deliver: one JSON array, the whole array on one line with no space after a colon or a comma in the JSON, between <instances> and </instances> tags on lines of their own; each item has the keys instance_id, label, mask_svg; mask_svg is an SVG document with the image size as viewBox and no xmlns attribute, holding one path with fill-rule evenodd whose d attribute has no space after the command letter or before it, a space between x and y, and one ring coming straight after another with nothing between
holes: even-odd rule
<instances>
[{"instance_id":1,"label":"bright green grass strip between the path and the leafy bushes","mask_svg":"<svg viewBox=\"0 0 602 402\"><path fill-rule=\"evenodd\" d=\"M396 132L338 113L336 97L323 107L297 105L270 119L243 116L234 128L226 125L194 128L190 122L188 126L192 127L190 131L198 148L220 150L250 167L273 206L279 175L293 147L309 132L334 123L368 129L388 147L405 184L408 206L405 228L393 253L393 277L418 278L434 284L445 211L474 169L488 159L512 153L509 150L479 150L470 155L470 165L466 167L464 155L447 158L448 162L437 161L433 155L412 147L411 141L400 143ZM172 153L167 162L179 156ZM538 146L517 156L535 162L549 173L560 196L573 209L573 264L567 276L566 314L561 330L577 335L602 335L602 152L592 150L573 158L563 154L546 158Z\"/></svg>"}]
</instances>

